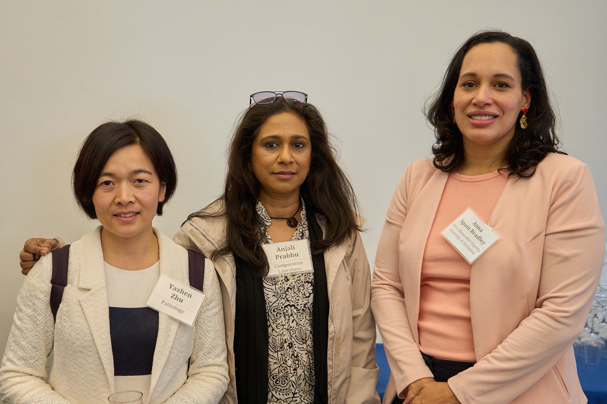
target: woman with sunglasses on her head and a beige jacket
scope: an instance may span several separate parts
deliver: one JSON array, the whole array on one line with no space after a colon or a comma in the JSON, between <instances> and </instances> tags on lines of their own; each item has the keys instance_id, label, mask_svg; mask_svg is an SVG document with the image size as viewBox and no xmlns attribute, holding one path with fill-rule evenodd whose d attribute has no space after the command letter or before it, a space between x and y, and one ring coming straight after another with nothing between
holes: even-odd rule
<instances>
[{"instance_id":1,"label":"woman with sunglasses on her head and a beige jacket","mask_svg":"<svg viewBox=\"0 0 607 404\"><path fill-rule=\"evenodd\" d=\"M364 219L325 121L306 101L297 91L251 96L223 195L174 237L219 276L230 372L222 403L379 403ZM30 240L22 267L46 242ZM264 246L298 240L311 267L279 263L286 274L270 273Z\"/></svg>"}]
</instances>

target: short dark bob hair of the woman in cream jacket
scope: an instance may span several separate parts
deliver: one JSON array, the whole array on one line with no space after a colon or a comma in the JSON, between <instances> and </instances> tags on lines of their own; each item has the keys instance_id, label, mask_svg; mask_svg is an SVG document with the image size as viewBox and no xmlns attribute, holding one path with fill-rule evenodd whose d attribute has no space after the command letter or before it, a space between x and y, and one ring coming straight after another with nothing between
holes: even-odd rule
<instances>
[{"instance_id":1,"label":"short dark bob hair of the woman in cream jacket","mask_svg":"<svg viewBox=\"0 0 607 404\"><path fill-rule=\"evenodd\" d=\"M157 130L137 119L111 121L99 125L84 139L72 173L72 188L78 206L91 219L97 219L93 205L93 192L107 160L120 148L140 145L148 154L160 179L166 186L164 201L158 202L156 214L161 216L162 207L177 187L177 167L168 145Z\"/></svg>"}]
</instances>

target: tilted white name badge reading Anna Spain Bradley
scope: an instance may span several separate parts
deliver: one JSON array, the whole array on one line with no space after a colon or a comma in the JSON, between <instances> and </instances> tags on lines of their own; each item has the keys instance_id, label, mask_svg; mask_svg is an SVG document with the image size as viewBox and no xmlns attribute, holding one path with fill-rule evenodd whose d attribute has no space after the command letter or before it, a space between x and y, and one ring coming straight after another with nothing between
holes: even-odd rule
<instances>
[{"instance_id":1,"label":"tilted white name badge reading Anna Spain Bradley","mask_svg":"<svg viewBox=\"0 0 607 404\"><path fill-rule=\"evenodd\" d=\"M470 208L441 231L441 234L469 264L500 239L493 228L486 225Z\"/></svg>"}]
</instances>

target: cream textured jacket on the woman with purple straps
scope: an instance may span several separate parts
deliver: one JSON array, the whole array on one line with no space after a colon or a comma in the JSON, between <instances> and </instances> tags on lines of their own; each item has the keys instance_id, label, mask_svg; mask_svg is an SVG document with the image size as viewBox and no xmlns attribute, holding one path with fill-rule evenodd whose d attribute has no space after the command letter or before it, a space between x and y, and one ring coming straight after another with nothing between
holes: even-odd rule
<instances>
[{"instance_id":1,"label":"cream textured jacket on the woman with purple straps","mask_svg":"<svg viewBox=\"0 0 607 404\"><path fill-rule=\"evenodd\" d=\"M49 303L52 254L42 257L25 277L0 368L4 403L107 404L114 392L100 229L70 248L67 286L56 323ZM160 274L187 285L187 251L154 231L160 247ZM150 404L217 403L226 390L222 300L212 263L206 260L205 267L206 298L194 327L158 314ZM47 384L47 356L52 350Z\"/></svg>"}]
</instances>

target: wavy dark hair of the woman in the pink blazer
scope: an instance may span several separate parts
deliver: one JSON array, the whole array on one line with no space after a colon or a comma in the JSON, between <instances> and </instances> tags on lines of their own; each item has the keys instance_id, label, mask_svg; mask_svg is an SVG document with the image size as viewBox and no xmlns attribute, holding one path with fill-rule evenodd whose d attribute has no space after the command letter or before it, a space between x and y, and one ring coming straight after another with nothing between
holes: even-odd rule
<instances>
[{"instance_id":1,"label":"wavy dark hair of the woman in the pink blazer","mask_svg":"<svg viewBox=\"0 0 607 404\"><path fill-rule=\"evenodd\" d=\"M527 128L515 125L514 136L504 151L507 165L503 170L509 176L531 177L537 165L548 153L559 151L555 124L556 118L550 105L544 73L534 48L524 39L503 31L482 31L471 36L453 56L443 78L441 88L426 105L426 117L435 128L436 143L432 146L434 165L450 173L464 164L464 146L459 128L453 122L450 104L459 79L459 70L466 53L478 44L501 42L509 45L518 58L523 91L531 93L531 105L527 111ZM522 116L519 114L518 119ZM500 169L502 170L502 169Z\"/></svg>"}]
</instances>

